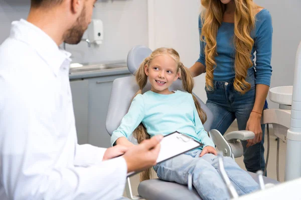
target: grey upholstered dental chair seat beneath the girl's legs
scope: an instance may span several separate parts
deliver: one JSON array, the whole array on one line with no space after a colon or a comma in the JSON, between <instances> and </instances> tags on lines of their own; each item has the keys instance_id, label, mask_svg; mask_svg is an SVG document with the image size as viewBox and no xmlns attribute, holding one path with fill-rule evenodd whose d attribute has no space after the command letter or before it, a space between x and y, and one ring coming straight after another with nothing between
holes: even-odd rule
<instances>
[{"instance_id":1,"label":"grey upholstered dental chair seat beneath the girl's legs","mask_svg":"<svg viewBox=\"0 0 301 200\"><path fill-rule=\"evenodd\" d=\"M258 176L255 173L248 172L256 182ZM278 184L279 182L263 176L264 183ZM258 182L259 183L259 182ZM167 182L164 180L150 179L142 181L138 186L138 193L147 200L201 200L195 188L191 192L187 185L176 182Z\"/></svg>"}]
</instances>

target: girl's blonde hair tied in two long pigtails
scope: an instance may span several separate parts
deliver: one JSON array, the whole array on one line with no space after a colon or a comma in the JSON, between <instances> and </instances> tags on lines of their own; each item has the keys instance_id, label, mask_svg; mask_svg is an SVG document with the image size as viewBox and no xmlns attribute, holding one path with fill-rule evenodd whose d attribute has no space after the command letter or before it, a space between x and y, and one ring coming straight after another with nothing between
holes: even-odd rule
<instances>
[{"instance_id":1,"label":"girl's blonde hair tied in two long pigtails","mask_svg":"<svg viewBox=\"0 0 301 200\"><path fill-rule=\"evenodd\" d=\"M147 75L145 74L144 66L147 65L149 67L149 64L152 62L152 60L159 55L169 55L170 57L172 57L175 60L175 62L177 63L177 73L179 72L179 70L181 71L183 89L189 93L192 93L192 89L194 86L194 80L193 80L193 77L192 77L190 71L180 61L179 53L173 48L157 48L156 50L154 50L152 52L152 54L150 54L148 57L146 57L142 61L138 70L136 71L135 76L136 76L136 82L139 85L139 90L134 95L134 97L137 94L142 93L142 89L144 88L144 86L146 85L146 82L147 82ZM205 121L207 119L207 115L204 112L204 110L201 108L201 105L200 105L199 101L197 100L197 98L193 94L192 94L192 96L193 96L193 100L196 105L198 114L201 118L201 121L202 121L202 123L205 123ZM133 135L137 139L138 143L140 143L144 139L150 138L149 134L147 134L146 129L142 123L140 123L138 125L138 127L133 131ZM150 169L147 169L140 174L141 181L149 179L149 178L150 178Z\"/></svg>"}]
</instances>

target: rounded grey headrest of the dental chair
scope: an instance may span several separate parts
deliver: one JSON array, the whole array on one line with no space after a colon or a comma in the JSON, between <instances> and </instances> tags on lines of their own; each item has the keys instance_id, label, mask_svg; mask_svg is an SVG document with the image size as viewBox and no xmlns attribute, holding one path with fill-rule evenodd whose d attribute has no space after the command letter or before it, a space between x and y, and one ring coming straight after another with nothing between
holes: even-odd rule
<instances>
[{"instance_id":1,"label":"rounded grey headrest of the dental chair","mask_svg":"<svg viewBox=\"0 0 301 200\"><path fill-rule=\"evenodd\" d=\"M142 45L137 45L130 49L126 59L126 64L129 72L134 75L141 62L152 52L153 51L150 50L150 48Z\"/></svg>"}]
</instances>

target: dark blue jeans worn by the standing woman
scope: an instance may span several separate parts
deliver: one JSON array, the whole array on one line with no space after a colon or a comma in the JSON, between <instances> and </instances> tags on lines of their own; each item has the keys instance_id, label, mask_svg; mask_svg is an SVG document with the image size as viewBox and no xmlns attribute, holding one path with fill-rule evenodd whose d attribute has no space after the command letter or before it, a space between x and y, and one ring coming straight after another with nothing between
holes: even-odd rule
<instances>
[{"instance_id":1,"label":"dark blue jeans worn by the standing woman","mask_svg":"<svg viewBox=\"0 0 301 200\"><path fill-rule=\"evenodd\" d=\"M222 134L237 119L238 129L244 130L255 102L255 74L254 69L248 70L246 81L251 84L251 89L245 94L234 90L233 80L213 81L214 88L205 88L207 92L206 105L214 113L211 129L217 129ZM264 128L261 125L262 140L250 147L246 147L247 141L241 141L243 146L244 163L246 169L251 172L264 170Z\"/></svg>"}]
</instances>

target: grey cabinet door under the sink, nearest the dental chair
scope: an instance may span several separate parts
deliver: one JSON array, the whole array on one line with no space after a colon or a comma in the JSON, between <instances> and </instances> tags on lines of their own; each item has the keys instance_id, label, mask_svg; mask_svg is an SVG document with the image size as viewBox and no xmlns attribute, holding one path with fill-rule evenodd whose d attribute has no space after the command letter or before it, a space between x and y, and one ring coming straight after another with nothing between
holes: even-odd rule
<instances>
[{"instance_id":1,"label":"grey cabinet door under the sink, nearest the dental chair","mask_svg":"<svg viewBox=\"0 0 301 200\"><path fill-rule=\"evenodd\" d=\"M110 135L105 121L108 111L112 83L115 78L130 74L89 78L88 143L99 147L110 147Z\"/></svg>"}]
</instances>

